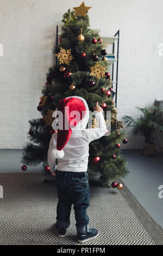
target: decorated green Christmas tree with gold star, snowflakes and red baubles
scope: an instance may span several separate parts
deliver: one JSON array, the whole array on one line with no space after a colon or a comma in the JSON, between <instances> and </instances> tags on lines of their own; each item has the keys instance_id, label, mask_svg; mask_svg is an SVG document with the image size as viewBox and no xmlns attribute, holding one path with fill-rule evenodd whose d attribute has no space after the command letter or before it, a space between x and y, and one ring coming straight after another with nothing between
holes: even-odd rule
<instances>
[{"instance_id":1,"label":"decorated green Christmas tree with gold star, snowflakes and red baubles","mask_svg":"<svg viewBox=\"0 0 163 256\"><path fill-rule=\"evenodd\" d=\"M127 143L123 125L118 121L112 100L111 77L108 72L106 50L99 32L89 28L89 17L84 2L63 15L59 44L53 53L57 63L49 68L47 82L42 89L39 106L42 118L30 120L29 142L23 147L22 170L42 163L49 171L47 151L53 133L52 117L59 100L69 96L83 97L93 111L96 102L103 110L111 111L111 134L91 142L88 172L99 176L98 182L108 187L110 182L127 174L126 161L121 156L121 142ZM107 121L106 121L107 122ZM96 127L96 120L93 120ZM95 176L95 175L94 175Z\"/></svg>"}]
</instances>

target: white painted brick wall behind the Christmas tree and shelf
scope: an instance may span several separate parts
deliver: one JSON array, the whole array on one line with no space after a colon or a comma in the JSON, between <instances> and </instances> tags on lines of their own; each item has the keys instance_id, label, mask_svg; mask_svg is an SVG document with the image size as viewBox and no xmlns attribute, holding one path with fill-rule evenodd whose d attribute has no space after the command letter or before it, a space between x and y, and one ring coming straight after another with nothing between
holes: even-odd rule
<instances>
[{"instance_id":1,"label":"white painted brick wall behind the Christmas tree and shelf","mask_svg":"<svg viewBox=\"0 0 163 256\"><path fill-rule=\"evenodd\" d=\"M68 8L82 0L1 0L0 148L22 148L27 141L28 120L41 117L39 104L45 74L52 66L56 25ZM162 0L86 0L91 28L101 35L120 29L118 117L137 117L135 106L162 99L163 57ZM141 139L127 132L125 148L140 148Z\"/></svg>"}]
</instances>

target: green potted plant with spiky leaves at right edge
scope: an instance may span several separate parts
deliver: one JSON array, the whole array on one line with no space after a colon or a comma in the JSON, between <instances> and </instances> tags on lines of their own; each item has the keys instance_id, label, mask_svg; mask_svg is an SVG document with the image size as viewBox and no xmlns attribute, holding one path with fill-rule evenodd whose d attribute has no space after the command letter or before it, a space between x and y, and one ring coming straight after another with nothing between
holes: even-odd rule
<instances>
[{"instance_id":1,"label":"green potted plant with spiky leaves at right edge","mask_svg":"<svg viewBox=\"0 0 163 256\"><path fill-rule=\"evenodd\" d=\"M134 135L142 135L144 137L143 154L145 156L153 156L155 154L155 131L163 130L163 117L158 107L147 106L145 108L137 108L142 114L134 120L131 116L123 116L123 123L127 127L133 127Z\"/></svg>"}]
</instances>

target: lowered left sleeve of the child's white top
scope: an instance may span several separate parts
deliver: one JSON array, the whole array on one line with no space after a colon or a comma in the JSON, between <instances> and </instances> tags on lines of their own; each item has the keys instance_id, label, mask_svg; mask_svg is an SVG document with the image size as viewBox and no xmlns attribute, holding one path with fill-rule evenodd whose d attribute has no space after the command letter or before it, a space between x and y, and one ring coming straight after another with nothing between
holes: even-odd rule
<instances>
[{"instance_id":1,"label":"lowered left sleeve of the child's white top","mask_svg":"<svg viewBox=\"0 0 163 256\"><path fill-rule=\"evenodd\" d=\"M48 165L51 169L51 172L55 171L57 168L56 160L57 158L54 158L53 156L53 150L57 148L57 133L54 133L52 135L51 141L49 143L49 149L48 149Z\"/></svg>"}]
</instances>

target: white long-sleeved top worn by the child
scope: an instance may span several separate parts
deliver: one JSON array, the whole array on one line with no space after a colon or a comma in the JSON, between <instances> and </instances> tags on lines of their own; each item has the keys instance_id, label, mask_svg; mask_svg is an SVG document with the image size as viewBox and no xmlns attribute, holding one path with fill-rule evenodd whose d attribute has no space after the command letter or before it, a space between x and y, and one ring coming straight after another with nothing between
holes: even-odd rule
<instances>
[{"instance_id":1,"label":"white long-sleeved top worn by the child","mask_svg":"<svg viewBox=\"0 0 163 256\"><path fill-rule=\"evenodd\" d=\"M77 96L73 96L83 100L86 109L89 110L86 101ZM69 98L69 97L67 97ZM58 158L56 165L56 158L54 158L52 151L57 148L57 134L52 135L48 149L48 165L51 172L56 169L59 171L87 171L88 157L89 157L89 144L93 140L101 138L106 133L106 124L102 112L95 114L98 122L98 128L72 130L72 134L67 144L64 147L64 157ZM86 127L89 115L86 115L84 126ZM81 120L82 121L82 120ZM81 122L80 121L80 122ZM84 127L84 128L85 128Z\"/></svg>"}]
</instances>

